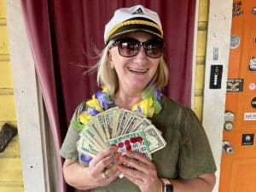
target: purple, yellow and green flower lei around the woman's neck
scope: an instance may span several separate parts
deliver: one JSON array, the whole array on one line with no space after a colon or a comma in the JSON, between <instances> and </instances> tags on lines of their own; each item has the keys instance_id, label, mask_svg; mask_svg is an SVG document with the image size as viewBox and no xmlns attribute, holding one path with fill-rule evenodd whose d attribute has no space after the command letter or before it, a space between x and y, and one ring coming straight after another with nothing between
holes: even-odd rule
<instances>
[{"instance_id":1,"label":"purple, yellow and green flower lei around the woman's neck","mask_svg":"<svg viewBox=\"0 0 256 192\"><path fill-rule=\"evenodd\" d=\"M143 113L149 118L152 118L154 114L160 113L162 109L160 105L160 89L155 90L154 84L150 84L148 88L143 91L142 98L143 100L141 102L132 106L131 111ZM76 127L79 128L79 130L82 130L84 125L86 125L97 113L102 113L113 105L113 101L110 99L108 90L105 86L102 86L102 90L96 91L95 95L85 103L88 108L82 113L79 113L79 123L76 123Z\"/></svg>"}]
</instances>

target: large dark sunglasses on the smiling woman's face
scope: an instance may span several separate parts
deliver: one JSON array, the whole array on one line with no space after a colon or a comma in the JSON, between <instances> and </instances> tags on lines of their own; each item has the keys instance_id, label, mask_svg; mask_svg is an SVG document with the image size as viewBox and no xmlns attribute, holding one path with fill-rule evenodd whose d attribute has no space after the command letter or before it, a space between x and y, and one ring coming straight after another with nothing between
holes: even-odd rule
<instances>
[{"instance_id":1,"label":"large dark sunglasses on the smiling woman's face","mask_svg":"<svg viewBox=\"0 0 256 192\"><path fill-rule=\"evenodd\" d=\"M109 49L118 46L119 55L132 57L138 54L141 47L150 58L159 58L163 55L164 41L158 38L152 38L148 41L141 42L135 38L118 38Z\"/></svg>"}]
</instances>

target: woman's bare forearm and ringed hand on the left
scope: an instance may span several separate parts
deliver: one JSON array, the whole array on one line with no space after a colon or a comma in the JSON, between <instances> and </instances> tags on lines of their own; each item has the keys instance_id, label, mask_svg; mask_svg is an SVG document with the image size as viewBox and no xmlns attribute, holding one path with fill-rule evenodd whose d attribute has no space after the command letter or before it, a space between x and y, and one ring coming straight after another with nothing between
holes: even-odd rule
<instances>
[{"instance_id":1,"label":"woman's bare forearm and ringed hand on the left","mask_svg":"<svg viewBox=\"0 0 256 192\"><path fill-rule=\"evenodd\" d=\"M90 161L88 167L80 166L79 162L65 160L63 164L63 175L66 182L76 189L92 189L106 186L119 176L117 170L119 161L110 166L113 161L118 160L117 148L105 148ZM104 173L103 173L104 172ZM102 177L105 174L105 177Z\"/></svg>"}]
</instances>

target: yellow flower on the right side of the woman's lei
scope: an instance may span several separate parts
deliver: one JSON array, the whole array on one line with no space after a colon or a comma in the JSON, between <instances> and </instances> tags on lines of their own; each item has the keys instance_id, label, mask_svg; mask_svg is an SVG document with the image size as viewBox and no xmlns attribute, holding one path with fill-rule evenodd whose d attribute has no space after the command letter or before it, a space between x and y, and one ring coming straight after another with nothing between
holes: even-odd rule
<instances>
[{"instance_id":1,"label":"yellow flower on the right side of the woman's lei","mask_svg":"<svg viewBox=\"0 0 256 192\"><path fill-rule=\"evenodd\" d=\"M154 115L154 108L152 107L152 105L153 99L152 97L150 97L148 99L143 99L143 101L138 102L137 104L132 106L131 111L137 111L139 107L141 109L141 113L151 118Z\"/></svg>"}]
</instances>

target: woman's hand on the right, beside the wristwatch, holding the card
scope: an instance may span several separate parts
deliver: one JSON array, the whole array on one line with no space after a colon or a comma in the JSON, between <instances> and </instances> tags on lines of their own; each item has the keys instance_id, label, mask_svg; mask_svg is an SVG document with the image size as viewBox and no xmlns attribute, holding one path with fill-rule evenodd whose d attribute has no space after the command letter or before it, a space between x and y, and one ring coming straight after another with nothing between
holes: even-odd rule
<instances>
[{"instance_id":1,"label":"woman's hand on the right, beside the wristwatch, holding the card","mask_svg":"<svg viewBox=\"0 0 256 192\"><path fill-rule=\"evenodd\" d=\"M126 151L126 156L120 156L119 159L127 166L118 166L119 172L128 178L132 183L137 184L142 192L160 192L161 181L157 176L154 163L144 154L134 151Z\"/></svg>"}]
</instances>

